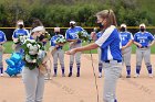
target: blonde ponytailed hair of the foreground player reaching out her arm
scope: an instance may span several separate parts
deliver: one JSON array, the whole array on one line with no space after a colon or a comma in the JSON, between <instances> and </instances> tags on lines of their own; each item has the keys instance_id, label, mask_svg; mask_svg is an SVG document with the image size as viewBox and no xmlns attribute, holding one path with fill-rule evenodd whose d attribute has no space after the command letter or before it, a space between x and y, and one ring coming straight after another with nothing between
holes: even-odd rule
<instances>
[{"instance_id":1,"label":"blonde ponytailed hair of the foreground player reaching out her arm","mask_svg":"<svg viewBox=\"0 0 155 102\"><path fill-rule=\"evenodd\" d=\"M115 18L115 14L114 14L113 10L100 11L100 12L96 13L96 16L100 16L102 19L106 19L107 26L110 26L110 25L117 26L116 18Z\"/></svg>"}]
</instances>

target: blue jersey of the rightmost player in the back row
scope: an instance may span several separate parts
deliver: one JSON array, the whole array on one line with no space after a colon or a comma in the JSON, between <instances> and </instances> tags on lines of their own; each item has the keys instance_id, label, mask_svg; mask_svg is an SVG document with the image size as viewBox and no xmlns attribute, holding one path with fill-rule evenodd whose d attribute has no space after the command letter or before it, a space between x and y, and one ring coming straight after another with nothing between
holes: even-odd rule
<instances>
[{"instance_id":1,"label":"blue jersey of the rightmost player in the back row","mask_svg":"<svg viewBox=\"0 0 155 102\"><path fill-rule=\"evenodd\" d=\"M142 47L147 47L152 41L154 41L154 36L149 32L137 32L134 35L134 42L140 43Z\"/></svg>"}]
</instances>

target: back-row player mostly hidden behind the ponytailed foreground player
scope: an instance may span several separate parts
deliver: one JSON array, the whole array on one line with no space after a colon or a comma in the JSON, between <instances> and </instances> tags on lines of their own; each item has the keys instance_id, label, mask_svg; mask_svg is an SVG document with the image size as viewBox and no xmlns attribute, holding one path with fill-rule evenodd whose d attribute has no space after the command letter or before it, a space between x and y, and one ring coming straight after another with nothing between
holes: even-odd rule
<instances>
[{"instance_id":1,"label":"back-row player mostly hidden behind the ponytailed foreground player","mask_svg":"<svg viewBox=\"0 0 155 102\"><path fill-rule=\"evenodd\" d=\"M96 41L102 36L102 32L99 32L99 33L92 32L91 36L92 36L93 41ZM102 65L102 60L101 60L101 48L100 47L97 48L97 54L99 54L99 78L102 78L103 65Z\"/></svg>"}]
</instances>

